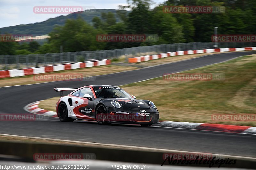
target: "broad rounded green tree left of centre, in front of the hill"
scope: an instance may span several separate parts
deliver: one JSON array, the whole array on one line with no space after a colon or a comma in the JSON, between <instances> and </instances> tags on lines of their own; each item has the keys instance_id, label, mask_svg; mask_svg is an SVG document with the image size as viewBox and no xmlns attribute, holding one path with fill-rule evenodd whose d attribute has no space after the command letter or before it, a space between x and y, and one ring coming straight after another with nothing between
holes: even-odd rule
<instances>
[{"instance_id":1,"label":"broad rounded green tree left of centre, in front of the hill","mask_svg":"<svg viewBox=\"0 0 256 170\"><path fill-rule=\"evenodd\" d=\"M67 20L64 26L55 27L49 34L49 42L54 52L59 52L60 46L63 52L100 50L104 48L103 42L96 41L96 35L100 33L82 18L78 18Z\"/></svg>"}]
</instances>

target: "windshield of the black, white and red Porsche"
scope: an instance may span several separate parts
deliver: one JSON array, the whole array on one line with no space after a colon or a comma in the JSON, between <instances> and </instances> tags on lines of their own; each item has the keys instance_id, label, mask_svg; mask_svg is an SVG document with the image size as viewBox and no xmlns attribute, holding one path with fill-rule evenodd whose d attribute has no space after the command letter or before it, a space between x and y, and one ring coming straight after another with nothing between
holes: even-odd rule
<instances>
[{"instance_id":1,"label":"windshield of the black, white and red Porsche","mask_svg":"<svg viewBox=\"0 0 256 170\"><path fill-rule=\"evenodd\" d=\"M132 98L127 92L117 88L94 88L97 98Z\"/></svg>"}]
</instances>

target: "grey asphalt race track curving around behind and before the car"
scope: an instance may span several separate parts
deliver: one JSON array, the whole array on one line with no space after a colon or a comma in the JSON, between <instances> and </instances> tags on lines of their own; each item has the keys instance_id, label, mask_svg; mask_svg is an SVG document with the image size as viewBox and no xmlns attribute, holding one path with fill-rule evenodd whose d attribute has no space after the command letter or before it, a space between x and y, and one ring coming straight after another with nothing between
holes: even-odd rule
<instances>
[{"instance_id":1,"label":"grey asphalt race track curving around behind and before the car","mask_svg":"<svg viewBox=\"0 0 256 170\"><path fill-rule=\"evenodd\" d=\"M28 103L59 96L59 93L53 91L53 87L124 85L255 53L256 51L249 51L206 55L176 63L101 75L94 81L59 81L3 87L0 88L0 113L27 113L23 107ZM60 122L56 118L50 118L48 121L1 121L0 133L256 157L256 136L245 134L162 127L143 128L137 125L98 125L84 121Z\"/></svg>"}]
</instances>

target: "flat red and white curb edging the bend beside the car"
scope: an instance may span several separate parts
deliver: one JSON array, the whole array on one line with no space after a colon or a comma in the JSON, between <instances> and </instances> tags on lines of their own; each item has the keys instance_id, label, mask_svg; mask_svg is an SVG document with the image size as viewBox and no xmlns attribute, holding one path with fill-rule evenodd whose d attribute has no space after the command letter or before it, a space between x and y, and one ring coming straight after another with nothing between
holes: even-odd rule
<instances>
[{"instance_id":1,"label":"flat red and white curb edging the bend beside the car","mask_svg":"<svg viewBox=\"0 0 256 170\"><path fill-rule=\"evenodd\" d=\"M57 113L39 108L40 101L30 103L24 107L24 110L36 115L43 115L48 117L57 118ZM230 133L245 133L256 135L256 127L249 126L235 126L235 125L223 125L223 124L210 124L210 123L189 123L189 122L172 122L161 121L157 127L179 128L179 129L194 129L204 131L216 131L216 132L230 132Z\"/></svg>"}]
</instances>

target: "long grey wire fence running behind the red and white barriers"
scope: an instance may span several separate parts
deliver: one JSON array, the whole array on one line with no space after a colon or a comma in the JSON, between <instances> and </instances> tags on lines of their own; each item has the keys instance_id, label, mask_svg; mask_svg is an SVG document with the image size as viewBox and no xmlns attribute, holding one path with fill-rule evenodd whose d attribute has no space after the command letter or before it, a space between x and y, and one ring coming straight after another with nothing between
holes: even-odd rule
<instances>
[{"instance_id":1,"label":"long grey wire fence running behind the red and white barriers","mask_svg":"<svg viewBox=\"0 0 256 170\"><path fill-rule=\"evenodd\" d=\"M214 42L192 42L178 44L160 44L153 46L140 46L132 48L77 51L68 53L47 53L29 55L0 55L1 70L37 67L49 64L82 62L100 59L113 59L119 57L138 57L157 53L186 51L196 49L213 49ZM255 47L256 42L219 42L218 48Z\"/></svg>"}]
</instances>

